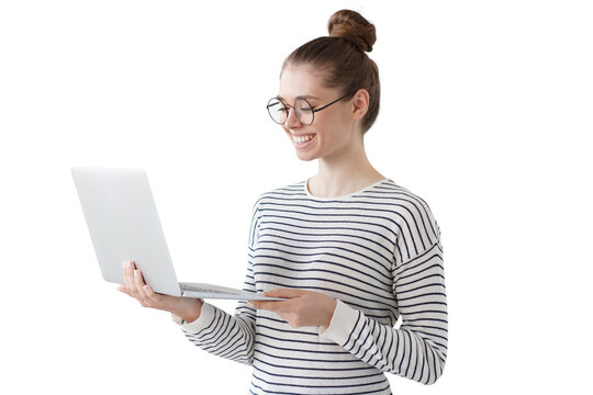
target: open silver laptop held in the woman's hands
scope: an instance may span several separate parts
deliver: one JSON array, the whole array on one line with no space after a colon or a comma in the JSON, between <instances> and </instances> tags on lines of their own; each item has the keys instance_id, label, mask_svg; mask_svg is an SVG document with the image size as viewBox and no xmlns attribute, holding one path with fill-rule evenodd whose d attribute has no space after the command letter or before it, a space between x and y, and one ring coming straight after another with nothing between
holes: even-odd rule
<instances>
[{"instance_id":1,"label":"open silver laptop held in the woman's hands","mask_svg":"<svg viewBox=\"0 0 593 395\"><path fill-rule=\"evenodd\" d=\"M178 282L144 169L72 167L76 190L103 279L124 284L133 260L158 293L195 298L282 301L262 293Z\"/></svg>"}]
</instances>

